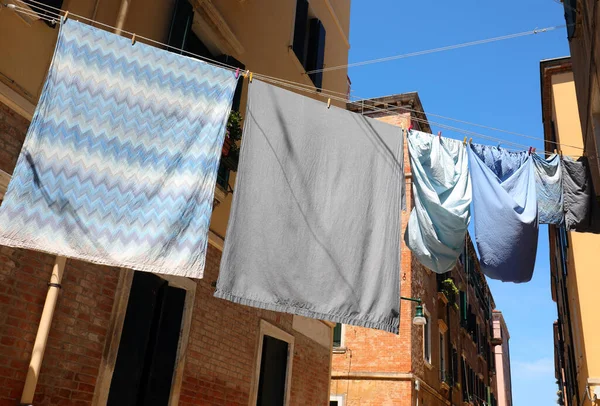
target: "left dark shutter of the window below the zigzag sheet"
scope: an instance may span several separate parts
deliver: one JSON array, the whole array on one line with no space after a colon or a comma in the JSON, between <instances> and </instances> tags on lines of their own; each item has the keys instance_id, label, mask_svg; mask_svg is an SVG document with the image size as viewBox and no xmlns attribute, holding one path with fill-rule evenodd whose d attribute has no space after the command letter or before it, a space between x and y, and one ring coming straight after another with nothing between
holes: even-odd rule
<instances>
[{"instance_id":1,"label":"left dark shutter of the window below the zigzag sheet","mask_svg":"<svg viewBox=\"0 0 600 406\"><path fill-rule=\"evenodd\" d=\"M166 282L148 272L133 276L108 405L135 405L159 291Z\"/></svg>"}]
</instances>

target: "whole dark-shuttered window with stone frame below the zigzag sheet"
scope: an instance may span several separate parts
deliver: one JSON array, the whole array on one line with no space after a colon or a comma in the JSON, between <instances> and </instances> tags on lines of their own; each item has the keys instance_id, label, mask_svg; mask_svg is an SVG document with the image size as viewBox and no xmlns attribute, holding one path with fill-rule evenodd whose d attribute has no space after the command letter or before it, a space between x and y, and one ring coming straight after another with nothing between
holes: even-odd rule
<instances>
[{"instance_id":1,"label":"whole dark-shuttered window with stone frame below the zigzag sheet","mask_svg":"<svg viewBox=\"0 0 600 406\"><path fill-rule=\"evenodd\" d=\"M177 404L196 284L133 271L119 284L95 403Z\"/></svg>"}]
</instances>

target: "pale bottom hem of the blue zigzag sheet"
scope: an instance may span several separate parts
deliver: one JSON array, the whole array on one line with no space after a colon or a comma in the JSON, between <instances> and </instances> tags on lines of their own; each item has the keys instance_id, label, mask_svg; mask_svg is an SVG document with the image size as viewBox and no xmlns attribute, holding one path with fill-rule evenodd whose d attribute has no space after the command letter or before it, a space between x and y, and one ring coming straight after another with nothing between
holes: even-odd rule
<instances>
[{"instance_id":1,"label":"pale bottom hem of the blue zigzag sheet","mask_svg":"<svg viewBox=\"0 0 600 406\"><path fill-rule=\"evenodd\" d=\"M182 268L177 268L176 270L171 270L169 268L159 267L159 266L140 266L137 263L127 262L127 261L107 261L104 259L96 258L96 257L88 257L84 255L78 255L77 253L69 252L66 253L63 250L55 250L50 251L47 249L40 248L37 244L27 243L25 241L14 240L12 238L0 237L0 245L4 245L11 248L22 248L32 251L43 252L49 255L56 255L60 257L65 257L69 259L75 259L78 261L91 262L96 265L104 265L110 266L114 268L125 268L132 269L134 271L140 272L150 272L162 275L173 275L173 276L182 276L184 278L193 278L193 279L202 279L204 277L204 263L200 271L182 271Z\"/></svg>"}]
</instances>

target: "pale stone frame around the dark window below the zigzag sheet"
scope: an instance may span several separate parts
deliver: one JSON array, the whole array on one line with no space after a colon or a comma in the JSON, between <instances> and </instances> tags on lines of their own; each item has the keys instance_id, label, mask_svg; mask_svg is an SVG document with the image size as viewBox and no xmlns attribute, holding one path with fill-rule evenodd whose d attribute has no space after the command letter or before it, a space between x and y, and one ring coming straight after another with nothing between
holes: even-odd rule
<instances>
[{"instance_id":1,"label":"pale stone frame around the dark window below the zigzag sheet","mask_svg":"<svg viewBox=\"0 0 600 406\"><path fill-rule=\"evenodd\" d=\"M119 281L115 292L115 302L113 304L107 333L107 337L109 338L107 338L104 344L102 360L98 370L98 379L91 403L92 406L106 405L106 402L108 401L112 376L117 361L117 354L119 353L119 345L121 343L121 334L125 323L125 314L127 313L127 305L129 303L129 292L131 291L135 271L131 269L121 269L119 273ZM177 357L175 368L173 369L171 393L169 395L169 406L176 406L179 404L179 396L181 394L197 285L193 280L183 276L162 274L156 276L167 281L170 286L186 291L181 328L179 330L180 335L179 343L177 345Z\"/></svg>"}]
</instances>

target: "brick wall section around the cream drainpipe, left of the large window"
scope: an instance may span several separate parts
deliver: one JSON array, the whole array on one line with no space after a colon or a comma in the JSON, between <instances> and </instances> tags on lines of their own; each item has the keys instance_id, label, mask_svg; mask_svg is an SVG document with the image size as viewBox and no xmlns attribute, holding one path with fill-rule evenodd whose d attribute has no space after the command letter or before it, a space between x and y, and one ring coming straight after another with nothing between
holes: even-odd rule
<instances>
[{"instance_id":1,"label":"brick wall section around the cream drainpipe, left of the large window","mask_svg":"<svg viewBox=\"0 0 600 406\"><path fill-rule=\"evenodd\" d=\"M21 397L54 257L0 248L0 405ZM118 271L69 260L40 371L36 405L89 404Z\"/></svg>"}]
</instances>

